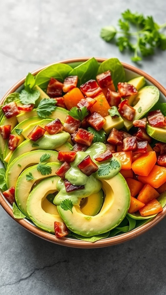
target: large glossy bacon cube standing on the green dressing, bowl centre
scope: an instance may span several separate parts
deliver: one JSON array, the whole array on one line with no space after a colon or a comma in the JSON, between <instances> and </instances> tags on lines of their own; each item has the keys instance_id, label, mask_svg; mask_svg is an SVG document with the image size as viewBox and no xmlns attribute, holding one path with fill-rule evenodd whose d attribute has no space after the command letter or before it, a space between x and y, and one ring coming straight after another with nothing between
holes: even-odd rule
<instances>
[{"instance_id":1,"label":"large glossy bacon cube standing on the green dressing, bowl centre","mask_svg":"<svg viewBox=\"0 0 166 295\"><path fill-rule=\"evenodd\" d=\"M87 176L90 176L92 173L95 173L99 168L92 161L89 155L87 155L78 165L77 167Z\"/></svg>"}]
</instances>

